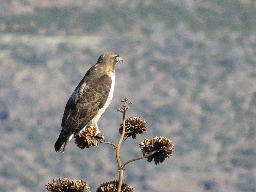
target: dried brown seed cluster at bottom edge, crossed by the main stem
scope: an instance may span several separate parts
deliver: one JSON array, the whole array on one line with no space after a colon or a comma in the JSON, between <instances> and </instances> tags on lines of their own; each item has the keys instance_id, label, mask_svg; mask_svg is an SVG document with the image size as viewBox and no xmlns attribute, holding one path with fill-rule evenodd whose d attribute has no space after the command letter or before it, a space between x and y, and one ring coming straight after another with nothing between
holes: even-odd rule
<instances>
[{"instance_id":1,"label":"dried brown seed cluster at bottom edge, crossed by the main stem","mask_svg":"<svg viewBox=\"0 0 256 192\"><path fill-rule=\"evenodd\" d=\"M111 181L101 184L96 192L116 192L118 187L118 181ZM121 192L134 192L131 186L122 183Z\"/></svg>"}]
</instances>

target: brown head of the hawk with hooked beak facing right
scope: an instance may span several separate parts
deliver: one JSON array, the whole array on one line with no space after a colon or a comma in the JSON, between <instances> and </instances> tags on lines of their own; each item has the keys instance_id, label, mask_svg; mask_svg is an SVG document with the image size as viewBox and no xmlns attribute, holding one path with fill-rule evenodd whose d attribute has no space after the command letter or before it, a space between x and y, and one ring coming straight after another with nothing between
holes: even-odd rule
<instances>
[{"instance_id":1,"label":"brown head of the hawk with hooked beak facing right","mask_svg":"<svg viewBox=\"0 0 256 192\"><path fill-rule=\"evenodd\" d=\"M106 67L106 68L114 71L115 67L116 67L116 64L119 61L123 62L122 57L120 57L119 54L116 53L116 52L109 51L109 52L106 52L106 53L102 54L99 57L96 64L98 64L99 67Z\"/></svg>"}]
</instances>

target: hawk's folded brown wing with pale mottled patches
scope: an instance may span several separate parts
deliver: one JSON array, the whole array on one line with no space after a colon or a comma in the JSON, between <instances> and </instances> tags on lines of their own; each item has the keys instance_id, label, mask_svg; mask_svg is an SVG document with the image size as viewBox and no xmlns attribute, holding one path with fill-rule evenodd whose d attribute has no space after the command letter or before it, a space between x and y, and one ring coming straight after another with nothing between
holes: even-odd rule
<instances>
[{"instance_id":1,"label":"hawk's folded brown wing with pale mottled patches","mask_svg":"<svg viewBox=\"0 0 256 192\"><path fill-rule=\"evenodd\" d=\"M106 103L111 83L105 72L86 74L66 104L61 127L73 133L84 128Z\"/></svg>"}]
</instances>

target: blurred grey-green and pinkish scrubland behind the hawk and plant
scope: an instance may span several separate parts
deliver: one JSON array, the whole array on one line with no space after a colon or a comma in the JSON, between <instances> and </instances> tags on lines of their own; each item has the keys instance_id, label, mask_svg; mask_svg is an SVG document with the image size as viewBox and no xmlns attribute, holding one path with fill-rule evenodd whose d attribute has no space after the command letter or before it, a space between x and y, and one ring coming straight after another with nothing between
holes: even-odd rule
<instances>
[{"instance_id":1,"label":"blurred grey-green and pinkish scrubland behind the hawk and plant","mask_svg":"<svg viewBox=\"0 0 256 192\"><path fill-rule=\"evenodd\" d=\"M0 2L0 191L46 191L53 178L91 191L118 180L111 145L64 154L53 145L64 107L106 51L124 59L99 121L117 143L121 99L148 132L123 142L121 160L144 138L176 146L160 165L124 170L135 191L256 191L255 0L4 0Z\"/></svg>"}]
</instances>

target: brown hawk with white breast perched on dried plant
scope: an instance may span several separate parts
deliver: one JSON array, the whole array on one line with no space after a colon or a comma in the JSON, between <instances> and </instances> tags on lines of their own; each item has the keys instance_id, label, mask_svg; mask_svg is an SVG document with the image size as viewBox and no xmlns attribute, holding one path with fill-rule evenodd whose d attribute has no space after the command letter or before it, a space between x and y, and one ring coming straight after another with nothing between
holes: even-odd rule
<instances>
[{"instance_id":1,"label":"brown hawk with white breast perched on dried plant","mask_svg":"<svg viewBox=\"0 0 256 192\"><path fill-rule=\"evenodd\" d=\"M95 126L100 133L97 122L111 102L115 85L115 67L122 57L116 52L102 54L77 85L67 101L62 122L61 133L54 150L64 152L67 143L86 127Z\"/></svg>"}]
</instances>

